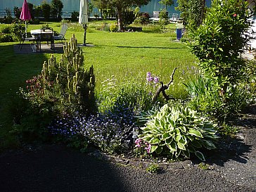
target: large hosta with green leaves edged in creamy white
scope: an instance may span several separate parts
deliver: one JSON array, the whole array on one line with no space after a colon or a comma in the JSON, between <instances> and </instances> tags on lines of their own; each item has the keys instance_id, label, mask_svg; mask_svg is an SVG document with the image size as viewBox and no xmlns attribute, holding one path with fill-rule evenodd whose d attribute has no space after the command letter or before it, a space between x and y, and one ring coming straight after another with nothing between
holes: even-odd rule
<instances>
[{"instance_id":1,"label":"large hosta with green leaves edged in creamy white","mask_svg":"<svg viewBox=\"0 0 256 192\"><path fill-rule=\"evenodd\" d=\"M151 153L172 158L190 158L190 154L195 153L200 160L205 160L198 148L216 148L212 142L217 139L216 125L188 107L166 104L141 128L139 138L151 144Z\"/></svg>"}]
</instances>

